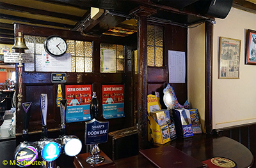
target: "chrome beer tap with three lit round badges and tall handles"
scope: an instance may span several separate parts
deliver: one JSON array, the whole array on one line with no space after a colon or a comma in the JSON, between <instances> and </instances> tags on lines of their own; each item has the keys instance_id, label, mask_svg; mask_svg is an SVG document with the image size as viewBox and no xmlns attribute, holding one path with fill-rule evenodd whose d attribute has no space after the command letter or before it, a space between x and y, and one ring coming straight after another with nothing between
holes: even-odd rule
<instances>
[{"instance_id":1,"label":"chrome beer tap with three lit round badges and tall handles","mask_svg":"<svg viewBox=\"0 0 256 168\"><path fill-rule=\"evenodd\" d=\"M24 104L26 105L26 104ZM27 104L26 107L30 107ZM17 146L15 150L15 164L19 167L27 167L33 164L36 159L42 158L41 167L55 168L56 159L60 157L61 153L74 157L78 155L82 149L82 143L76 136L65 135L65 113L67 108L67 100L61 100L60 114L61 114L61 132L60 137L51 139L47 137L47 94L40 95L40 112L42 116L42 132L40 141L28 142L23 141ZM29 108L27 108L29 109ZM28 118L25 123L28 123ZM28 125L24 127L28 132ZM28 135L27 135L28 136ZM40 156L40 157L38 157ZM39 161L40 163L40 161Z\"/></svg>"}]
</instances>

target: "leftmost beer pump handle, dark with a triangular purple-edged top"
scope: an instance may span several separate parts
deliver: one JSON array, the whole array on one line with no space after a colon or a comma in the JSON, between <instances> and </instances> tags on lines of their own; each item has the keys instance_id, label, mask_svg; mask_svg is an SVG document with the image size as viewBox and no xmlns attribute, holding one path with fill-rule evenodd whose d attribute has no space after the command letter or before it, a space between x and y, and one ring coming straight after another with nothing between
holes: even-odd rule
<instances>
[{"instance_id":1,"label":"leftmost beer pump handle, dark with a triangular purple-edged top","mask_svg":"<svg viewBox=\"0 0 256 168\"><path fill-rule=\"evenodd\" d=\"M22 103L22 107L25 111L24 115L24 129L22 130L22 140L23 141L28 141L28 125L29 125L29 117L30 117L30 112L29 109L31 107L32 102L24 102Z\"/></svg>"}]
</instances>

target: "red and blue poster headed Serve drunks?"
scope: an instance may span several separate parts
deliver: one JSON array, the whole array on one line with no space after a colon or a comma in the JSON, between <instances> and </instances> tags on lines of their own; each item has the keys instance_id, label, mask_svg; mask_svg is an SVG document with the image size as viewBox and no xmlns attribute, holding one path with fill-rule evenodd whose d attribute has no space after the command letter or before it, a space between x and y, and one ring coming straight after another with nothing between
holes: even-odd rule
<instances>
[{"instance_id":1,"label":"red and blue poster headed Serve drunks?","mask_svg":"<svg viewBox=\"0 0 256 168\"><path fill-rule=\"evenodd\" d=\"M124 117L124 85L102 85L102 113L105 119Z\"/></svg>"}]
</instances>

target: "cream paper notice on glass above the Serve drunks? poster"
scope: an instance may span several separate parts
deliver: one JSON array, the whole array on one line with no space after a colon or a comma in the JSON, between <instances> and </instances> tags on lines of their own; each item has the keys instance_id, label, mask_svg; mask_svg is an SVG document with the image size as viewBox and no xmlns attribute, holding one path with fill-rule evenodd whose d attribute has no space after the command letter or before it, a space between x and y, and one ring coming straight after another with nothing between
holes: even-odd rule
<instances>
[{"instance_id":1,"label":"cream paper notice on glass above the Serve drunks? poster","mask_svg":"<svg viewBox=\"0 0 256 168\"><path fill-rule=\"evenodd\" d=\"M101 73L116 73L116 50L101 49L100 62Z\"/></svg>"}]
</instances>

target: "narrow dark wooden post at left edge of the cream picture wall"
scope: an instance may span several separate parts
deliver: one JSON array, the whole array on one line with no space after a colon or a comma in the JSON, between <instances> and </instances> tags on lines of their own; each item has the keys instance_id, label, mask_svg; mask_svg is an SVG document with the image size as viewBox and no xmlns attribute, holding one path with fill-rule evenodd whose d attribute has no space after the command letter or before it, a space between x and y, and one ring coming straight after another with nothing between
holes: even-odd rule
<instances>
[{"instance_id":1,"label":"narrow dark wooden post at left edge of the cream picture wall","mask_svg":"<svg viewBox=\"0 0 256 168\"><path fill-rule=\"evenodd\" d=\"M212 45L213 24L205 22L205 131L212 131Z\"/></svg>"}]
</instances>

